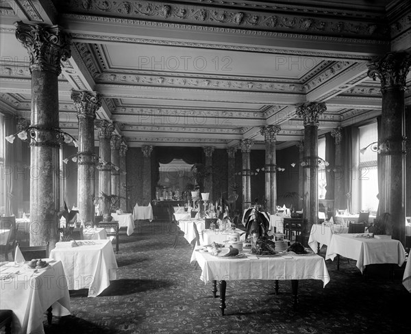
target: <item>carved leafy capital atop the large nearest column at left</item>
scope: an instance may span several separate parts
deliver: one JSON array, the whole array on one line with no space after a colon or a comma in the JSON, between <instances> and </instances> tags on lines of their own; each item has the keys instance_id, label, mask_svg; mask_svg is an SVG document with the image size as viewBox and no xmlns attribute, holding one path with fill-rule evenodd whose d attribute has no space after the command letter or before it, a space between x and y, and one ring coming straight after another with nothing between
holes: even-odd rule
<instances>
[{"instance_id":1,"label":"carved leafy capital atop the large nearest column at left","mask_svg":"<svg viewBox=\"0 0 411 334\"><path fill-rule=\"evenodd\" d=\"M14 23L16 38L27 49L30 71L49 70L60 75L60 61L71 57L71 37L58 25Z\"/></svg>"}]
</instances>

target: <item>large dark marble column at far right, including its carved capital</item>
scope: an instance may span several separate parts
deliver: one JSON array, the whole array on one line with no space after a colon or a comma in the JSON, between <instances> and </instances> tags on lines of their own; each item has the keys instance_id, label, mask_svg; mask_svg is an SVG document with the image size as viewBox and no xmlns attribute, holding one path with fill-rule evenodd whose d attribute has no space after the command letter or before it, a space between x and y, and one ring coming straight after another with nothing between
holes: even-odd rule
<instances>
[{"instance_id":1,"label":"large dark marble column at far right, including its carved capital","mask_svg":"<svg viewBox=\"0 0 411 334\"><path fill-rule=\"evenodd\" d=\"M382 116L379 154L382 170L379 190L380 213L391 214L393 239L406 241L406 77L410 71L411 52L387 53L369 64L368 75L381 81Z\"/></svg>"}]
</instances>

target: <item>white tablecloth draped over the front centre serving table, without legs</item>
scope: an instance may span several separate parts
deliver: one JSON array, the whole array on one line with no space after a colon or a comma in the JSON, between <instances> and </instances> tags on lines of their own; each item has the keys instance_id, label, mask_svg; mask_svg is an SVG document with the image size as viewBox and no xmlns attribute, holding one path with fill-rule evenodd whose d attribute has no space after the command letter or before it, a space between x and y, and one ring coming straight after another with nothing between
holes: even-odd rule
<instances>
[{"instance_id":1,"label":"white tablecloth draped over the front centre serving table, without legs","mask_svg":"<svg viewBox=\"0 0 411 334\"><path fill-rule=\"evenodd\" d=\"M247 253L245 253L247 254ZM286 255L275 257L249 257L227 259L208 253L195 252L201 267L201 281L242 279L321 279L323 286L329 282L329 274L323 257L316 254Z\"/></svg>"}]
</instances>

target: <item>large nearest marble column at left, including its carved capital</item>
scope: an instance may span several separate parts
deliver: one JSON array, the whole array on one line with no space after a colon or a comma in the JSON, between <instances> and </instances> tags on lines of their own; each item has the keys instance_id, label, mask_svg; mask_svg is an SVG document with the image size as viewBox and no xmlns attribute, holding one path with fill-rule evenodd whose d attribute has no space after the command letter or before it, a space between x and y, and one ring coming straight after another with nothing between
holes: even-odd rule
<instances>
[{"instance_id":1,"label":"large nearest marble column at left, including its carved capital","mask_svg":"<svg viewBox=\"0 0 411 334\"><path fill-rule=\"evenodd\" d=\"M71 41L58 25L15 23L16 38L29 53L32 73L30 142L30 245L50 243L60 235L60 142L58 76L61 60L71 57Z\"/></svg>"}]
</instances>

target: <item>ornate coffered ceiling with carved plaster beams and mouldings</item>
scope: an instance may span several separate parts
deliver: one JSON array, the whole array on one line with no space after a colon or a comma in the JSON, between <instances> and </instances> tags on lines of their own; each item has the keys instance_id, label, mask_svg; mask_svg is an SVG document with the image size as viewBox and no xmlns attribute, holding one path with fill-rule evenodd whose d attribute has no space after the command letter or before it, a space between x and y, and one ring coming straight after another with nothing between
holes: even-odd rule
<instances>
[{"instance_id":1,"label":"ornate coffered ceiling with carved plaster beams and mouldings","mask_svg":"<svg viewBox=\"0 0 411 334\"><path fill-rule=\"evenodd\" d=\"M58 24L73 38L60 127L77 135L71 89L97 90L97 118L113 120L128 146L224 148L251 138L262 148L263 125L280 125L278 147L290 146L303 138L295 107L305 101L327 105L320 134L362 123L382 103L366 64L411 45L404 0L18 0L0 1L0 14L1 110L30 115L28 55L14 22Z\"/></svg>"}]
</instances>

